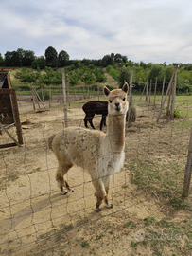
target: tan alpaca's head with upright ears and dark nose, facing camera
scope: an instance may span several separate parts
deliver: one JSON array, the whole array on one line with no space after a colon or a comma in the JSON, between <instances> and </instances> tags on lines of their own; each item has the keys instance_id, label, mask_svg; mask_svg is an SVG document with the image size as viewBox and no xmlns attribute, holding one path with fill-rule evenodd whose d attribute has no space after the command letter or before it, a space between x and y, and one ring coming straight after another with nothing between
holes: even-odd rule
<instances>
[{"instance_id":1,"label":"tan alpaca's head with upright ears and dark nose, facing camera","mask_svg":"<svg viewBox=\"0 0 192 256\"><path fill-rule=\"evenodd\" d=\"M104 86L103 91L109 101L108 113L110 115L125 115L128 111L128 83L125 82L122 89L114 89L112 91L110 91L107 87Z\"/></svg>"}]
</instances>

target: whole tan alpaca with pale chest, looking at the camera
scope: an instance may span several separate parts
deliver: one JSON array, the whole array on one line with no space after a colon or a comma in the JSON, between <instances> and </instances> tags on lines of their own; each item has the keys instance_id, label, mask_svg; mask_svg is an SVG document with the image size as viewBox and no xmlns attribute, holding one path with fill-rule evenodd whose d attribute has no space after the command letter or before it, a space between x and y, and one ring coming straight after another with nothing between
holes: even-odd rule
<instances>
[{"instance_id":1,"label":"whole tan alpaca with pale chest, looking at the camera","mask_svg":"<svg viewBox=\"0 0 192 256\"><path fill-rule=\"evenodd\" d=\"M103 88L109 101L106 134L85 128L68 127L48 138L49 148L52 149L59 163L56 180L61 193L66 193L63 187L73 192L64 179L64 174L73 165L87 170L96 190L96 211L100 210L103 199L107 208L113 207L108 202L110 176L119 172L124 164L128 90L128 83L125 83L122 89L113 91L107 87Z\"/></svg>"}]
</instances>

